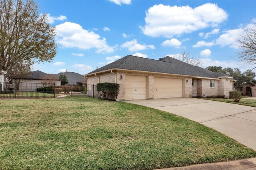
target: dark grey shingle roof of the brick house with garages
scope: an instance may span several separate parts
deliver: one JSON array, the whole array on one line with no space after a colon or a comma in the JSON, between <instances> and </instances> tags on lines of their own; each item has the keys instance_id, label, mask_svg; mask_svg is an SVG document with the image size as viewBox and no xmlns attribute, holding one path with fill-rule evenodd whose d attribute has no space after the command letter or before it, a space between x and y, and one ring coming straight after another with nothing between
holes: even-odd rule
<instances>
[{"instance_id":1,"label":"dark grey shingle roof of the brick house with garages","mask_svg":"<svg viewBox=\"0 0 256 170\"><path fill-rule=\"evenodd\" d=\"M172 57L160 58L160 60L147 59L142 57L136 57L132 55L127 55L122 59L114 61L113 63L107 64L101 68L98 68L87 75L101 72L104 70L111 69L126 69L126 70L138 70L147 72L159 72L167 74L180 74L196 77L207 77L207 78L218 78L218 77L230 77L226 74L216 73L204 68L193 66L191 64L182 62L180 60L174 59ZM230 77L231 78L231 77Z\"/></svg>"}]
</instances>

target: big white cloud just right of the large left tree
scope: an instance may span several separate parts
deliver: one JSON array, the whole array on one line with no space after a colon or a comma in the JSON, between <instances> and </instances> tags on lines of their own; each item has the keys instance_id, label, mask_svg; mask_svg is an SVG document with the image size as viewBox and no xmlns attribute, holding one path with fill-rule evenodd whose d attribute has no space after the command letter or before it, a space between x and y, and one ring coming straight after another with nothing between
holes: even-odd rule
<instances>
[{"instance_id":1,"label":"big white cloud just right of the large left tree","mask_svg":"<svg viewBox=\"0 0 256 170\"><path fill-rule=\"evenodd\" d=\"M93 31L83 29L81 25L65 22L56 25L57 41L63 47L91 49L96 48L96 53L111 53L115 47L108 46L106 38L100 39L100 35Z\"/></svg>"}]
</instances>

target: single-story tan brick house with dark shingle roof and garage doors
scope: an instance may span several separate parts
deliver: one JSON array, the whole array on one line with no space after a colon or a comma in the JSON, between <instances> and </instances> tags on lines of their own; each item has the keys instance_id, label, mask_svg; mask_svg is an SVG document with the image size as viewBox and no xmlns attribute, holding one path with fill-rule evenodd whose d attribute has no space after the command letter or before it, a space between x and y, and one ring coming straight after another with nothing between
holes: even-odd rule
<instances>
[{"instance_id":1,"label":"single-story tan brick house with dark shingle roof and garage doors","mask_svg":"<svg viewBox=\"0 0 256 170\"><path fill-rule=\"evenodd\" d=\"M235 81L226 74L168 56L154 60L127 55L84 76L87 84L120 84L121 101L217 95L229 98Z\"/></svg>"}]
</instances>

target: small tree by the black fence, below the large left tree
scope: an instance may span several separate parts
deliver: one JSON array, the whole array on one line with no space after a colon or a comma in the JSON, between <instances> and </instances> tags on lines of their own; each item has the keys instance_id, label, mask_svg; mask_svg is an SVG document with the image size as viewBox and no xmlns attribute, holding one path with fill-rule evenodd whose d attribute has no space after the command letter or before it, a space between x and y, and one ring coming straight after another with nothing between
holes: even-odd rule
<instances>
[{"instance_id":1,"label":"small tree by the black fence, below the large left tree","mask_svg":"<svg viewBox=\"0 0 256 170\"><path fill-rule=\"evenodd\" d=\"M17 63L15 67L10 70L8 79L15 83L16 94L19 94L20 83L23 78L28 76L29 72L31 72L31 68L27 63Z\"/></svg>"}]
</instances>

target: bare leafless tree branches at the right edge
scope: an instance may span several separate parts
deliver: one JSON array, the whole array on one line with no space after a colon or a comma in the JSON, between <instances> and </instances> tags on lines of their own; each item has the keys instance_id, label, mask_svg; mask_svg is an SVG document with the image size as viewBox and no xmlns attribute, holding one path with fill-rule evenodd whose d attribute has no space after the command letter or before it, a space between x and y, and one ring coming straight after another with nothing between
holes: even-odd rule
<instances>
[{"instance_id":1,"label":"bare leafless tree branches at the right edge","mask_svg":"<svg viewBox=\"0 0 256 170\"><path fill-rule=\"evenodd\" d=\"M256 64L256 23L247 27L240 38L236 39L236 46L240 48L240 52L237 53L239 61L245 65ZM256 66L253 68L255 69Z\"/></svg>"}]
</instances>

